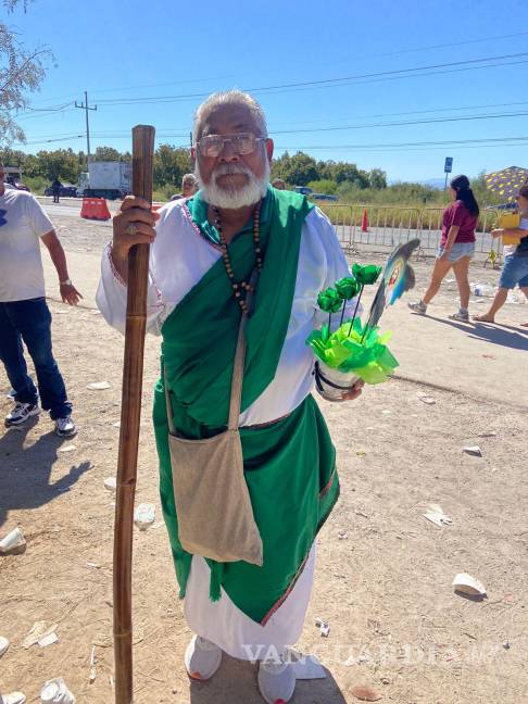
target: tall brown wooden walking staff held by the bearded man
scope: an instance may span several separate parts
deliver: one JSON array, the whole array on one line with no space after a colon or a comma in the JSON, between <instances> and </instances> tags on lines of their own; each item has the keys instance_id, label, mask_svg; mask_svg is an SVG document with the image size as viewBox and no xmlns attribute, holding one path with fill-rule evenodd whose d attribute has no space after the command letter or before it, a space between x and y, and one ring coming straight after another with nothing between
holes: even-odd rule
<instances>
[{"instance_id":1,"label":"tall brown wooden walking staff held by the bearded man","mask_svg":"<svg viewBox=\"0 0 528 704\"><path fill-rule=\"evenodd\" d=\"M152 201L154 128L133 129L133 190ZM147 324L149 244L136 244L128 254L125 357L121 402L114 525L114 654L115 704L133 703L131 557L134 494L138 462L143 350Z\"/></svg>"}]
</instances>

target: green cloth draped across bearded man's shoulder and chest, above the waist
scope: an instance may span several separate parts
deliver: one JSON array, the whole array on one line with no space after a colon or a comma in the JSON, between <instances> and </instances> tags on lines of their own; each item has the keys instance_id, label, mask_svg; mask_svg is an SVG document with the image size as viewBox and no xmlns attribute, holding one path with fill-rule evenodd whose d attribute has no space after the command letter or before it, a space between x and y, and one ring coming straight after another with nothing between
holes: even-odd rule
<instances>
[{"instance_id":1,"label":"green cloth draped across bearded man's shoulder and chest, above the waist","mask_svg":"<svg viewBox=\"0 0 528 704\"><path fill-rule=\"evenodd\" d=\"M199 194L192 205L194 216L202 215L203 209L206 212ZM263 203L260 237L264 266L254 313L247 326L242 411L275 376L290 320L301 229L312 208L299 193L273 189ZM237 236L229 244L237 280L249 280L255 265L250 231L248 236ZM209 428L227 425L240 315L221 257L163 326L162 353L174 399L191 418Z\"/></svg>"}]
</instances>

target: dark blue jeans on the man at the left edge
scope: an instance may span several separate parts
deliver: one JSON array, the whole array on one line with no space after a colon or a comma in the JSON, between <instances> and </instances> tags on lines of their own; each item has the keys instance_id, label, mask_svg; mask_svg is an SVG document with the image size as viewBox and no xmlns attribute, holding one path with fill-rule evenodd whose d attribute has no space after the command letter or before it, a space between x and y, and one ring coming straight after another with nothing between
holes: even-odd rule
<instances>
[{"instance_id":1,"label":"dark blue jeans on the man at the left edge","mask_svg":"<svg viewBox=\"0 0 528 704\"><path fill-rule=\"evenodd\" d=\"M37 403L38 393L27 375L24 340L37 373L40 402L53 420L72 413L64 380L51 350L51 313L46 299L0 303L0 359L20 403Z\"/></svg>"}]
</instances>

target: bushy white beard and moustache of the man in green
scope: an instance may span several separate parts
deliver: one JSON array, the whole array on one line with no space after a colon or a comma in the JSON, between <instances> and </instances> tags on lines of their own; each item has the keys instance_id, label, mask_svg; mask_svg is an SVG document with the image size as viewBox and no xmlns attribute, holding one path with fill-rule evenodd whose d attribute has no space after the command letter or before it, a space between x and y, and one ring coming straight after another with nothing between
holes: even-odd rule
<instances>
[{"instance_id":1,"label":"bushy white beard and moustache of the man in green","mask_svg":"<svg viewBox=\"0 0 528 704\"><path fill-rule=\"evenodd\" d=\"M211 174L209 184L204 184L200 174L200 166L197 161L196 176L202 191L203 200L210 205L225 210L237 210L247 205L253 205L264 198L269 183L269 163L266 159L264 174L257 178L253 172L243 164L219 164ZM216 179L225 174L246 174L248 183L239 188L225 188L218 186Z\"/></svg>"}]
</instances>

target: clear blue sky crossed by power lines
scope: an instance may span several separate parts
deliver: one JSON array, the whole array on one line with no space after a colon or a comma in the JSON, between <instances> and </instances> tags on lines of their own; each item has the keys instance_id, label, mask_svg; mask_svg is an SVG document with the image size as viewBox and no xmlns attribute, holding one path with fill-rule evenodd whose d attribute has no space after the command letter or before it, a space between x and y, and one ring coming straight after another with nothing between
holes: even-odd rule
<instances>
[{"instance_id":1,"label":"clear blue sky crossed by power lines","mask_svg":"<svg viewBox=\"0 0 528 704\"><path fill-rule=\"evenodd\" d=\"M187 7L35 0L26 14L9 15L27 46L48 45L56 61L32 104L61 109L21 116L23 149L86 150L86 139L75 137L85 134L85 114L72 104L84 90L98 105L90 113L93 151L129 149L129 130L139 123L156 127L158 143L188 144L201 95L280 86L254 91L276 153L302 149L380 167L390 180L442 177L444 156L454 158L454 172L470 176L528 166L526 0L202 0ZM420 71L410 75L408 68ZM521 114L506 116L513 113ZM499 117L477 120L482 115ZM470 120L423 122L461 116ZM347 129L328 129L335 127ZM519 137L525 140L513 139ZM467 140L485 141L420 143Z\"/></svg>"}]
</instances>

